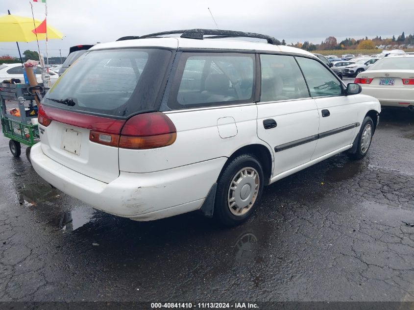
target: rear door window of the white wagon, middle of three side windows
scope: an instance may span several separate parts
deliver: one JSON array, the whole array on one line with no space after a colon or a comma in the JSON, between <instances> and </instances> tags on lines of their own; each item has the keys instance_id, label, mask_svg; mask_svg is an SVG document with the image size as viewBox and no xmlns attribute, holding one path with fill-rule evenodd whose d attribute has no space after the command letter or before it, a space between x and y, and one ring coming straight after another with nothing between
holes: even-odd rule
<instances>
[{"instance_id":1,"label":"rear door window of the white wagon, middle of three side windows","mask_svg":"<svg viewBox=\"0 0 414 310\"><path fill-rule=\"evenodd\" d=\"M260 55L262 90L260 101L310 97L302 72L293 56Z\"/></svg>"}]
</instances>

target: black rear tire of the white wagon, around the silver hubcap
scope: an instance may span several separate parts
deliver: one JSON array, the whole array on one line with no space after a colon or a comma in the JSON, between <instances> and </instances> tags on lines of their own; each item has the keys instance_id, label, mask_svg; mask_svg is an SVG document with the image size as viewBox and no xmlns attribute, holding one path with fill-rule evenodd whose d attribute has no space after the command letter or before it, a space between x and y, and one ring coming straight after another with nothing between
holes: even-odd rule
<instances>
[{"instance_id":1,"label":"black rear tire of the white wagon, around the silver hubcap","mask_svg":"<svg viewBox=\"0 0 414 310\"><path fill-rule=\"evenodd\" d=\"M244 172L246 176L242 177L241 174ZM241 184L237 189L237 191L240 191L239 195L236 195L236 190L230 192L230 185L237 176L240 176L241 180ZM243 223L256 209L262 196L264 181L262 165L254 155L242 154L231 160L219 175L213 217L220 224L228 227ZM255 184L254 190L252 189L253 183ZM248 186L246 187L246 185ZM247 206L238 208L237 202L235 202L236 205L231 208L230 204L232 202L229 202L229 199L231 199L230 195L233 194L234 197L239 197L237 199L241 204L247 203ZM245 200L242 200L242 196L246 197ZM239 211L240 214L235 215Z\"/></svg>"}]
</instances>

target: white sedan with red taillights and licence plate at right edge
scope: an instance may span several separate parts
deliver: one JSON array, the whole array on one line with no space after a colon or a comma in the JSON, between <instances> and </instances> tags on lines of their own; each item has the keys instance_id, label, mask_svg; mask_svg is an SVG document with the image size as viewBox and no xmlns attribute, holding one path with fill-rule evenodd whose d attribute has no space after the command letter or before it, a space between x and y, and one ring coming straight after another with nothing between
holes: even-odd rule
<instances>
[{"instance_id":1,"label":"white sedan with red taillights and licence plate at right edge","mask_svg":"<svg viewBox=\"0 0 414 310\"><path fill-rule=\"evenodd\" d=\"M381 106L408 108L414 112L414 55L378 60L355 78L362 93L377 98Z\"/></svg>"}]
</instances>

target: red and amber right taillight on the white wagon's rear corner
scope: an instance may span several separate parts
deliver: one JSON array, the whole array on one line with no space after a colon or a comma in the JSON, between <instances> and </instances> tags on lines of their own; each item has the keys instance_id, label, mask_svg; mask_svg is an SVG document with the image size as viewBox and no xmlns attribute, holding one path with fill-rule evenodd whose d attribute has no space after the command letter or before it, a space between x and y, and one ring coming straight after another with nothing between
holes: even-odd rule
<instances>
[{"instance_id":1,"label":"red and amber right taillight on the white wagon's rear corner","mask_svg":"<svg viewBox=\"0 0 414 310\"><path fill-rule=\"evenodd\" d=\"M128 119L122 128L119 146L148 149L170 145L177 138L172 121L161 112L139 114Z\"/></svg>"}]
</instances>

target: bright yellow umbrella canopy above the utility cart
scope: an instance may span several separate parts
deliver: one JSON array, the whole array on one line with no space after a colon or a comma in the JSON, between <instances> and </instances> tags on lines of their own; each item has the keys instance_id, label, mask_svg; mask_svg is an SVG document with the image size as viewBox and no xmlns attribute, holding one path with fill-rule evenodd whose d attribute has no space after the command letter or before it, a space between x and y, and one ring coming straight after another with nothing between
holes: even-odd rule
<instances>
[{"instance_id":1,"label":"bright yellow umbrella canopy above the utility cart","mask_svg":"<svg viewBox=\"0 0 414 310\"><path fill-rule=\"evenodd\" d=\"M36 41L36 34L32 31L37 26L42 24L42 21L34 20L33 18L4 15L0 17L0 42L31 42ZM63 34L53 27L48 25L48 40L62 39ZM45 33L37 34L38 40L46 40Z\"/></svg>"}]
</instances>

